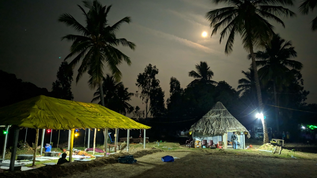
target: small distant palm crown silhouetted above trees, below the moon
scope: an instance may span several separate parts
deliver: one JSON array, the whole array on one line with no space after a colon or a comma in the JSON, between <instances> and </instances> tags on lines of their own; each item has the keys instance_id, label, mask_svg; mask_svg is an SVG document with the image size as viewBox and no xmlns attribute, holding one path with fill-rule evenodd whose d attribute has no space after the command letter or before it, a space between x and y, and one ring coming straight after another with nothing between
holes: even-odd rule
<instances>
[{"instance_id":1,"label":"small distant palm crown silhouetted above trees, below the moon","mask_svg":"<svg viewBox=\"0 0 317 178\"><path fill-rule=\"evenodd\" d=\"M193 77L193 80L188 86L192 86L197 83L204 83L204 84L214 84L217 85L216 81L210 80L214 73L210 70L210 67L207 65L207 62L200 61L200 64L196 64L196 71L189 72L189 76Z\"/></svg>"}]
</instances>

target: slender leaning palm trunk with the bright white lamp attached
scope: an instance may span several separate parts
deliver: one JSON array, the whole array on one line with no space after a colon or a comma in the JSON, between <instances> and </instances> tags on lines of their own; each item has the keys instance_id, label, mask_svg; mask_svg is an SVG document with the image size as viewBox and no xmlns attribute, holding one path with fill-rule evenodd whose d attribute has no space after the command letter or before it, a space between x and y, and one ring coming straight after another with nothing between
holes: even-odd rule
<instances>
[{"instance_id":1,"label":"slender leaning palm trunk with the bright white lamp attached","mask_svg":"<svg viewBox=\"0 0 317 178\"><path fill-rule=\"evenodd\" d=\"M253 47L252 46L250 46L250 54L251 54L251 59L252 59L252 68L253 68L253 71L254 71L254 79L255 79L255 82L256 82L256 93L257 93L257 97L258 97L258 101L259 101L260 113L263 113L264 105L263 105L263 102L262 102L260 81L259 81L259 76L258 76L258 73L257 73L256 59L255 59L255 56L254 56L254 52L253 52ZM265 119L261 119L261 120L262 120L262 124L263 124L263 134L264 134L263 144L269 143L269 140L268 140L268 128L266 126L266 120Z\"/></svg>"}]
</instances>

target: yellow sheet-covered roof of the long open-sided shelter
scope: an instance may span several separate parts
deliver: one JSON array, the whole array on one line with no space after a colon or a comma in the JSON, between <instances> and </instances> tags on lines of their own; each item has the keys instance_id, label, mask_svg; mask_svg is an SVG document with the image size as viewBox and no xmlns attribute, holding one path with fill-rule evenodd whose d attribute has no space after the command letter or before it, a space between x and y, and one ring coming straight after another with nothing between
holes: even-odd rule
<instances>
[{"instance_id":1,"label":"yellow sheet-covered roof of the long open-sided shelter","mask_svg":"<svg viewBox=\"0 0 317 178\"><path fill-rule=\"evenodd\" d=\"M56 99L43 95L0 108L0 124L56 130L151 128L98 104Z\"/></svg>"}]
</instances>

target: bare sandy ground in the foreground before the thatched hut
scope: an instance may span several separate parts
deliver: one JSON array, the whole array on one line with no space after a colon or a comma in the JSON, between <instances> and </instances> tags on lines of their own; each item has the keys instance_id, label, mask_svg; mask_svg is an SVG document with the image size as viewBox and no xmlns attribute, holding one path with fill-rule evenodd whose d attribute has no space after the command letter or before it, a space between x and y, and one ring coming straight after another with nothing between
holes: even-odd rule
<instances>
[{"instance_id":1,"label":"bare sandy ground in the foreground before the thatched hut","mask_svg":"<svg viewBox=\"0 0 317 178\"><path fill-rule=\"evenodd\" d=\"M162 162L170 155L180 159ZM134 164L107 164L65 178L87 177L317 177L317 161L272 158L234 151L175 150L139 157Z\"/></svg>"}]
</instances>

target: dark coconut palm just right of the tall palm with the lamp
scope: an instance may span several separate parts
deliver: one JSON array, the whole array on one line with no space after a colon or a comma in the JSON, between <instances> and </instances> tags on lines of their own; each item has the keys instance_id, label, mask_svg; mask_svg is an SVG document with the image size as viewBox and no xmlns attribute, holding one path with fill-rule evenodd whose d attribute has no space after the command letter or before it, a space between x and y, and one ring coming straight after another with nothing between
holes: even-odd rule
<instances>
[{"instance_id":1,"label":"dark coconut palm just right of the tall palm with the lamp","mask_svg":"<svg viewBox=\"0 0 317 178\"><path fill-rule=\"evenodd\" d=\"M291 41L285 41L280 35L273 35L269 44L264 46L264 51L255 53L256 65L261 67L259 75L264 85L268 82L273 84L274 104L277 106L276 90L281 91L283 86L293 82L294 73L291 69L301 70L301 62L290 60L297 56ZM250 58L251 56L249 56ZM278 108L275 107L276 129L279 130Z\"/></svg>"}]
</instances>

